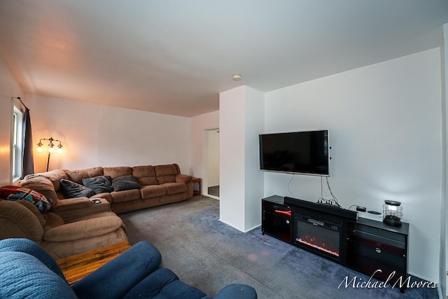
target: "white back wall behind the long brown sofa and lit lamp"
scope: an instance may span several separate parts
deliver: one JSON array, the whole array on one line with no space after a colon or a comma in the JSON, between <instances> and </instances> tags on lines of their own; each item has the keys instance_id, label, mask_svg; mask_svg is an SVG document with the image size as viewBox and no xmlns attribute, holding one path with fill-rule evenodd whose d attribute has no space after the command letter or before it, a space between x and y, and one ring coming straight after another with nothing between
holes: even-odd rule
<instances>
[{"instance_id":1,"label":"white back wall behind the long brown sofa and lit lamp","mask_svg":"<svg viewBox=\"0 0 448 299\"><path fill-rule=\"evenodd\" d=\"M64 146L50 170L178 163L190 173L190 118L36 95L27 105L34 144L53 137ZM47 154L34 151L35 172L46 163Z\"/></svg>"}]
</instances>

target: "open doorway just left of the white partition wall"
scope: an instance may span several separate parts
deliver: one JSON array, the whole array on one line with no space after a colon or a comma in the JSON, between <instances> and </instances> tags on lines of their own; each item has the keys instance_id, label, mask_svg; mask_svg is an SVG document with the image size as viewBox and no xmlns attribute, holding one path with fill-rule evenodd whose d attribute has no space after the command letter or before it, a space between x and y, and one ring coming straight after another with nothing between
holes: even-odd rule
<instances>
[{"instance_id":1,"label":"open doorway just left of the white partition wall","mask_svg":"<svg viewBox=\"0 0 448 299\"><path fill-rule=\"evenodd\" d=\"M219 129L204 131L203 193L219 199Z\"/></svg>"}]
</instances>

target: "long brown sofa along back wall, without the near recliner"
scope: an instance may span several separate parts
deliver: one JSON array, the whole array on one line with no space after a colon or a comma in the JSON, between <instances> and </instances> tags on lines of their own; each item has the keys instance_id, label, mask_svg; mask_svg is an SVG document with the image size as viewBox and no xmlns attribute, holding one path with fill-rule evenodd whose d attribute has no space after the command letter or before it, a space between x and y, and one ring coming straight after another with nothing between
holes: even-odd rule
<instances>
[{"instance_id":1,"label":"long brown sofa along back wall, without the near recliner","mask_svg":"<svg viewBox=\"0 0 448 299\"><path fill-rule=\"evenodd\" d=\"M99 193L90 197L104 198L111 204L116 214L155 207L161 204L180 202L193 197L192 177L181 174L179 165L142 165L134 167L93 167L88 169L66 170L56 169L41 174L29 174L20 181L20 186L36 190L39 193L56 200L53 209L63 213L64 193L61 179L82 184L83 179L95 176L110 176L116 179L120 176L133 176L141 186L139 189ZM87 197L78 197L78 201L89 202ZM73 215L73 211L69 213ZM79 216L79 215L76 215Z\"/></svg>"}]
</instances>

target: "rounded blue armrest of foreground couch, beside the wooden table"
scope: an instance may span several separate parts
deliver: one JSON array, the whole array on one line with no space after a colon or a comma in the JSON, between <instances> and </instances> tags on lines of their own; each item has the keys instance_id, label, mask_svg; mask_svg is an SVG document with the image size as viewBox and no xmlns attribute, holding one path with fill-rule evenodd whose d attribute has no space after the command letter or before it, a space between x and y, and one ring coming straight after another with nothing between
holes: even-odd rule
<instances>
[{"instance_id":1,"label":"rounded blue armrest of foreground couch, beside the wooden table","mask_svg":"<svg viewBox=\"0 0 448 299\"><path fill-rule=\"evenodd\" d=\"M141 241L71 287L79 298L123 298L161 262L160 251Z\"/></svg>"}]
</instances>

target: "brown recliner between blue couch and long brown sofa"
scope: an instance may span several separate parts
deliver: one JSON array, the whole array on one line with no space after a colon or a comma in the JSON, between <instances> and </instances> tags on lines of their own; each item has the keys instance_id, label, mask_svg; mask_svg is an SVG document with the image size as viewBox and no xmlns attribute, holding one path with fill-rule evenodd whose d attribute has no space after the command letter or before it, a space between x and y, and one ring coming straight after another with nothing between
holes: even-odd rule
<instances>
[{"instance_id":1,"label":"brown recliner between blue couch and long brown sofa","mask_svg":"<svg viewBox=\"0 0 448 299\"><path fill-rule=\"evenodd\" d=\"M110 207L109 211L84 214L64 219L64 214L52 211L41 214L27 200L0 200L0 239L31 239L55 259L127 241L126 226Z\"/></svg>"}]
</instances>

